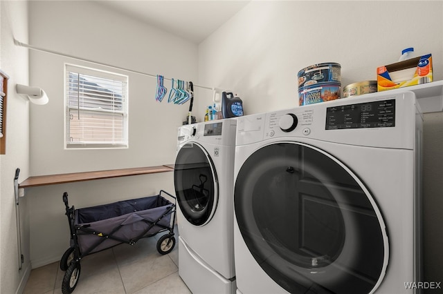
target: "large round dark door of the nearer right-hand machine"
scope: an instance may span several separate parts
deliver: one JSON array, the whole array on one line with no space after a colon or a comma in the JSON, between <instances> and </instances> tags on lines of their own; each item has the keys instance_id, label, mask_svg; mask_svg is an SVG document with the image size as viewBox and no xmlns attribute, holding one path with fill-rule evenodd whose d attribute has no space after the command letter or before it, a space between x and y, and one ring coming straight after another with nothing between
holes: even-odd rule
<instances>
[{"instance_id":1,"label":"large round dark door of the nearer right-hand machine","mask_svg":"<svg viewBox=\"0 0 443 294\"><path fill-rule=\"evenodd\" d=\"M239 231L256 262L290 293L370 293L383 280L381 212L338 159L306 144L255 151L235 182Z\"/></svg>"}]
</instances>

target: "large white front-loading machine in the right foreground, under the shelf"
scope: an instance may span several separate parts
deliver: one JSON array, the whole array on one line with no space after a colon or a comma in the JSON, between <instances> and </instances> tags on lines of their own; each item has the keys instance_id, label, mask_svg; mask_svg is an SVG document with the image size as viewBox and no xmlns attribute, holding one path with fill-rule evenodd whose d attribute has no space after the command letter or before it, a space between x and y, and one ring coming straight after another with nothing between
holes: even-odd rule
<instances>
[{"instance_id":1,"label":"large white front-loading machine in the right foreground, under the shelf","mask_svg":"<svg viewBox=\"0 0 443 294\"><path fill-rule=\"evenodd\" d=\"M422 281L413 92L239 117L236 140L238 293L413 293L405 283Z\"/></svg>"}]
</instances>

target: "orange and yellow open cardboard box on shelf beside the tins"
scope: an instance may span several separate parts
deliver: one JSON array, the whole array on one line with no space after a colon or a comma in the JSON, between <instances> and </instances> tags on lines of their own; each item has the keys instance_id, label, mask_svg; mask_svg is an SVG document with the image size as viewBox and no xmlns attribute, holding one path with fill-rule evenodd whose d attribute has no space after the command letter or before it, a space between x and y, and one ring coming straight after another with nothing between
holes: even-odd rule
<instances>
[{"instance_id":1,"label":"orange and yellow open cardboard box on shelf beside the tins","mask_svg":"<svg viewBox=\"0 0 443 294\"><path fill-rule=\"evenodd\" d=\"M377 68L377 90L391 90L433 81L432 55L423 55Z\"/></svg>"}]
</instances>

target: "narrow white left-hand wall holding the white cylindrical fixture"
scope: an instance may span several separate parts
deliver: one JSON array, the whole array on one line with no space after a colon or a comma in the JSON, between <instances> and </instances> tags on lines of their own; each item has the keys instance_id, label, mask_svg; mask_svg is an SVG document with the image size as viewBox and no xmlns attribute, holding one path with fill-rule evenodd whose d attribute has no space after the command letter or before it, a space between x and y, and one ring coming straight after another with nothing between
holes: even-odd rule
<instances>
[{"instance_id":1,"label":"narrow white left-hand wall holding the white cylindrical fixture","mask_svg":"<svg viewBox=\"0 0 443 294\"><path fill-rule=\"evenodd\" d=\"M19 271L15 218L14 175L29 175L29 106L15 92L15 84L28 84L28 52L14 45L13 35L28 40L26 1L0 1L0 68L9 77L6 117L6 154L0 155L0 293L23 291L30 273L27 199L20 199L24 264ZM21 290L20 290L21 289Z\"/></svg>"}]
</instances>

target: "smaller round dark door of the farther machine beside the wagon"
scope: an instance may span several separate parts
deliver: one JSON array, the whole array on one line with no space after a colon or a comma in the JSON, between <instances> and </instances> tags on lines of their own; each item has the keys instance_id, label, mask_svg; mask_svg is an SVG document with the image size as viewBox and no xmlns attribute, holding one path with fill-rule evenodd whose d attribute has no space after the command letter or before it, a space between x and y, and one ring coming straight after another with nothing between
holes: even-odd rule
<instances>
[{"instance_id":1,"label":"smaller round dark door of the farther machine beside the wagon","mask_svg":"<svg viewBox=\"0 0 443 294\"><path fill-rule=\"evenodd\" d=\"M217 208L217 174L213 161L202 146L181 147L174 167L177 202L184 217L195 226L208 223Z\"/></svg>"}]
</instances>

